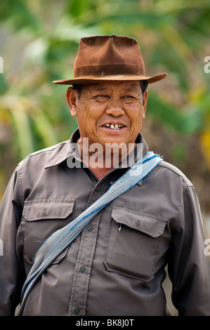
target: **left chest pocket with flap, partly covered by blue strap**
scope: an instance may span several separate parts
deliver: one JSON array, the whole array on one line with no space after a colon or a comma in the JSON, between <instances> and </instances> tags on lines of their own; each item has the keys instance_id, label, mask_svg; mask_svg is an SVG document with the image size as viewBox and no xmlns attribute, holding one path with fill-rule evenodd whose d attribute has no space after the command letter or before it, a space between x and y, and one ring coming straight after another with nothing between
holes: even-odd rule
<instances>
[{"instance_id":1,"label":"left chest pocket with flap, partly covered by blue strap","mask_svg":"<svg viewBox=\"0 0 210 330\"><path fill-rule=\"evenodd\" d=\"M72 220L74 200L33 200L25 202L20 230L24 240L23 255L33 263L39 246L56 230Z\"/></svg>"}]
</instances>

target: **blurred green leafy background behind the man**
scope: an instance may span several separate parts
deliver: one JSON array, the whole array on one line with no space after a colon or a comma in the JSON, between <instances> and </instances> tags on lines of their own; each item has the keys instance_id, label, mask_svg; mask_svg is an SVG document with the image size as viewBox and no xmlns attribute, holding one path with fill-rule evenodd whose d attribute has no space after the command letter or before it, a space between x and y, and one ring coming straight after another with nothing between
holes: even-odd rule
<instances>
[{"instance_id":1,"label":"blurred green leafy background behind the man","mask_svg":"<svg viewBox=\"0 0 210 330\"><path fill-rule=\"evenodd\" d=\"M72 77L79 39L96 34L137 39L146 73L168 72L148 89L142 132L195 185L210 237L209 0L1 1L0 201L19 161L77 127L51 81Z\"/></svg>"}]
</instances>

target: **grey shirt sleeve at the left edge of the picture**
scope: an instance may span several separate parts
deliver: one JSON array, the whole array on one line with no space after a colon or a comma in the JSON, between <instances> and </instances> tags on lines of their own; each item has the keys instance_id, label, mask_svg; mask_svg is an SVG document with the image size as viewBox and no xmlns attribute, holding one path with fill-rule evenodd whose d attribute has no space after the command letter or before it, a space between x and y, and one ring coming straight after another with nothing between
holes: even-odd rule
<instances>
[{"instance_id":1,"label":"grey shirt sleeve at the left edge of the picture","mask_svg":"<svg viewBox=\"0 0 210 330\"><path fill-rule=\"evenodd\" d=\"M18 173L14 171L0 205L0 315L13 316L20 302L23 272L16 249L22 216Z\"/></svg>"}]
</instances>

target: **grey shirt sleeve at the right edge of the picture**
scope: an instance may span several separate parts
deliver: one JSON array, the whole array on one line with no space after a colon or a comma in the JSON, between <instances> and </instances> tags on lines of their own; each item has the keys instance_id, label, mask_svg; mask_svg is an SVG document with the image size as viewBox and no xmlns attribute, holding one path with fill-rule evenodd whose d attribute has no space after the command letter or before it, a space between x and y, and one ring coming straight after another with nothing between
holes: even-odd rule
<instances>
[{"instance_id":1,"label":"grey shirt sleeve at the right edge of the picture","mask_svg":"<svg viewBox=\"0 0 210 330\"><path fill-rule=\"evenodd\" d=\"M179 315L210 315L210 263L204 253L204 229L193 186L183 191L181 220L171 239L169 277Z\"/></svg>"}]
</instances>

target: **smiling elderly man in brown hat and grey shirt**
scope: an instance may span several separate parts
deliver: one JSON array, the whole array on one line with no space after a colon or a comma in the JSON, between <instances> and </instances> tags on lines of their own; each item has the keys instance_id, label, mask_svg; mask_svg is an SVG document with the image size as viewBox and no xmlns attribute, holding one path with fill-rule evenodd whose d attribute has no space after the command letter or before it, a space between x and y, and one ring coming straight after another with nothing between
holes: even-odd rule
<instances>
[{"instance_id":1,"label":"smiling elderly man in brown hat and grey shirt","mask_svg":"<svg viewBox=\"0 0 210 330\"><path fill-rule=\"evenodd\" d=\"M140 134L147 84L164 77L145 76L134 39L80 40L74 79L53 81L73 86L79 128L18 164L1 203L1 315L21 291L20 315L167 315L166 265L179 315L210 315L195 188Z\"/></svg>"}]
</instances>

